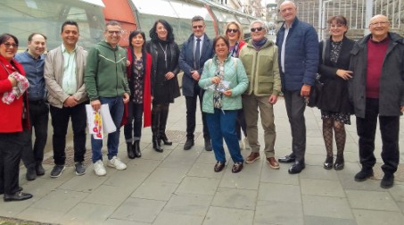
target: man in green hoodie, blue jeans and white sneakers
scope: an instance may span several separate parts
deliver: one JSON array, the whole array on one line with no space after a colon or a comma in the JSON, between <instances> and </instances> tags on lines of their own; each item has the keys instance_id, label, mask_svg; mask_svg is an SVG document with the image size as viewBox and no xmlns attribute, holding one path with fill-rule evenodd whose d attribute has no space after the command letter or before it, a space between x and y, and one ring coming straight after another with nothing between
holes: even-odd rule
<instances>
[{"instance_id":1,"label":"man in green hoodie, blue jeans and white sneakers","mask_svg":"<svg viewBox=\"0 0 404 225\"><path fill-rule=\"evenodd\" d=\"M91 106L99 111L102 104L108 104L111 118L117 130L108 134L108 166L119 171L127 169L120 161L120 122L124 104L129 101L127 79L127 52L120 47L122 29L117 21L108 21L103 32L104 41L99 42L88 52L85 83ZM106 174L103 166L103 139L91 136L92 161L97 176Z\"/></svg>"}]
</instances>

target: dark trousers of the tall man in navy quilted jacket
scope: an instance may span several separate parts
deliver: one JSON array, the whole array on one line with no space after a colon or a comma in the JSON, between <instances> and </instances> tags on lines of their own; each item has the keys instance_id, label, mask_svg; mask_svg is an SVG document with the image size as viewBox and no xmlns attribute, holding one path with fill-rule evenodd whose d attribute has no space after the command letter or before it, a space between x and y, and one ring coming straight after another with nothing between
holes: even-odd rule
<instances>
[{"instance_id":1,"label":"dark trousers of the tall man in navy quilted jacket","mask_svg":"<svg viewBox=\"0 0 404 225\"><path fill-rule=\"evenodd\" d=\"M306 121L304 110L306 102L301 91L284 91L284 104L292 131L292 155L296 161L304 162L306 153Z\"/></svg>"}]
</instances>

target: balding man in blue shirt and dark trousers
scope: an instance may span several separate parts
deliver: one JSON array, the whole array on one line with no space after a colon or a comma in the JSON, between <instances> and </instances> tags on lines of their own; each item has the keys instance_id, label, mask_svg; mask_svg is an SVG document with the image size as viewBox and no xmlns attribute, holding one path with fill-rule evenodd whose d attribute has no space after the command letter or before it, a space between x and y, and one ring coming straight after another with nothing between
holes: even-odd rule
<instances>
[{"instance_id":1,"label":"balding man in blue shirt and dark trousers","mask_svg":"<svg viewBox=\"0 0 404 225\"><path fill-rule=\"evenodd\" d=\"M28 49L15 55L15 60L22 64L29 80L29 121L35 129L35 143L32 146L32 129L27 132L29 141L23 149L21 159L27 168L25 178L37 179L45 174L42 162L47 139L49 121L49 104L46 101L44 78L46 37L43 34L32 33L28 37Z\"/></svg>"}]
</instances>

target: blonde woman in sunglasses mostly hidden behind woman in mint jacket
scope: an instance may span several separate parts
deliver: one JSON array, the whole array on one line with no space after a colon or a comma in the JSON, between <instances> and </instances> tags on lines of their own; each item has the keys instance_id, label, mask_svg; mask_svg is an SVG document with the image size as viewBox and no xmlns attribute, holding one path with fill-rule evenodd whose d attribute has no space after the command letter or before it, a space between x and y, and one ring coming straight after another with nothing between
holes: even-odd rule
<instances>
[{"instance_id":1,"label":"blonde woman in sunglasses mostly hidden behind woman in mint jacket","mask_svg":"<svg viewBox=\"0 0 404 225\"><path fill-rule=\"evenodd\" d=\"M238 54L243 46L245 46L245 41L243 41L243 28L240 23L236 21L231 21L226 25L226 37L228 38L228 43L230 44L230 55L238 58ZM244 141L242 141L242 132L244 133ZM240 148L249 149L247 139L247 128L245 127L245 118L243 109L239 110L237 113L237 120L235 121L235 132L237 133L238 141L240 142ZM244 143L243 143L244 142Z\"/></svg>"}]
</instances>

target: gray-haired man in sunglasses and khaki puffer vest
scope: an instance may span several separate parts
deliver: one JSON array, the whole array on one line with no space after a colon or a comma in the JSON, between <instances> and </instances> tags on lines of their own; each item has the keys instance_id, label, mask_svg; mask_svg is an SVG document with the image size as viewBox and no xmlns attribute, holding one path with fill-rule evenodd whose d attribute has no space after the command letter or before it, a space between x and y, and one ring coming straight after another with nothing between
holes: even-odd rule
<instances>
[{"instance_id":1,"label":"gray-haired man in sunglasses and khaki puffer vest","mask_svg":"<svg viewBox=\"0 0 404 225\"><path fill-rule=\"evenodd\" d=\"M251 40L240 50L239 58L243 62L249 85L243 94L243 111L247 127L251 154L245 162L260 159L258 141L258 109L264 129L266 162L272 169L279 169L275 159L276 130L274 122L274 104L281 91L281 79L277 63L277 47L266 36L268 29L263 21L252 21Z\"/></svg>"}]
</instances>

